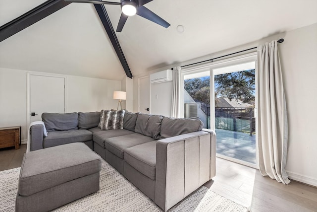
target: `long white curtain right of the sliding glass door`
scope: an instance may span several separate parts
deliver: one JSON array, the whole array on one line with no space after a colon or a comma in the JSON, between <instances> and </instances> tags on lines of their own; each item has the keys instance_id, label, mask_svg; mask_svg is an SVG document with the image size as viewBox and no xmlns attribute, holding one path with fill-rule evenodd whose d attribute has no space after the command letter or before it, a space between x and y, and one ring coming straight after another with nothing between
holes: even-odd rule
<instances>
[{"instance_id":1,"label":"long white curtain right of the sliding glass door","mask_svg":"<svg viewBox=\"0 0 317 212\"><path fill-rule=\"evenodd\" d=\"M286 102L276 40L258 47L258 62L260 172L288 184L290 180L285 171L288 141Z\"/></svg>"}]
</instances>

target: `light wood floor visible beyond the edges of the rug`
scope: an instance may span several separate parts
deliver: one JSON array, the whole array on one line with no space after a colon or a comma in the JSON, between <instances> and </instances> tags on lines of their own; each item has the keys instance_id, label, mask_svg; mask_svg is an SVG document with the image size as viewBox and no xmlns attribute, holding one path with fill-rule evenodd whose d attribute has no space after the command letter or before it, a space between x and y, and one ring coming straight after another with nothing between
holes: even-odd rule
<instances>
[{"instance_id":1,"label":"light wood floor visible beyond the edges of the rug","mask_svg":"<svg viewBox=\"0 0 317 212\"><path fill-rule=\"evenodd\" d=\"M0 149L0 171L21 166L25 151L26 145ZM317 188L295 181L283 185L221 158L216 160L216 176L205 186L252 212L317 212Z\"/></svg>"}]
</instances>

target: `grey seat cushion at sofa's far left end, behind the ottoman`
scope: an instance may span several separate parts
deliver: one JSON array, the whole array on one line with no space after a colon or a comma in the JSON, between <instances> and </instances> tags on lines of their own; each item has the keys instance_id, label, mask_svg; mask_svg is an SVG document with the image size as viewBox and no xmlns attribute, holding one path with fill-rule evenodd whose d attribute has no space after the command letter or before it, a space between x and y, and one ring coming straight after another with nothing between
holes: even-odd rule
<instances>
[{"instance_id":1,"label":"grey seat cushion at sofa's far left end, behind the ottoman","mask_svg":"<svg viewBox=\"0 0 317 212\"><path fill-rule=\"evenodd\" d=\"M93 140L93 133L88 130L53 131L43 139L43 147L52 147L66 143L84 142Z\"/></svg>"}]
</instances>

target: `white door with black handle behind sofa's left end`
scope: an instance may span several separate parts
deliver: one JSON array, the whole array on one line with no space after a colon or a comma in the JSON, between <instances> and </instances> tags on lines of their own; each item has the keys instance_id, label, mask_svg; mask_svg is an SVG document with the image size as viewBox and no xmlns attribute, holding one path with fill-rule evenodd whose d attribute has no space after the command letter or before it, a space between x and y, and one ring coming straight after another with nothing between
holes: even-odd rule
<instances>
[{"instance_id":1,"label":"white door with black handle behind sofa's left end","mask_svg":"<svg viewBox=\"0 0 317 212\"><path fill-rule=\"evenodd\" d=\"M42 113L65 113L65 77L29 74L29 123Z\"/></svg>"}]
</instances>

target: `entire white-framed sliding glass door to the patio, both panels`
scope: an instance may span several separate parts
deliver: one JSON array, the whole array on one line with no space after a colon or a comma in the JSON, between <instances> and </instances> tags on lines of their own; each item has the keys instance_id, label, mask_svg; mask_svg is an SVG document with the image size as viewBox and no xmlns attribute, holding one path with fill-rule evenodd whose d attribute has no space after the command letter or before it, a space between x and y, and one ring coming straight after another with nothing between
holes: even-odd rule
<instances>
[{"instance_id":1,"label":"entire white-framed sliding glass door to the patio, both panels","mask_svg":"<svg viewBox=\"0 0 317 212\"><path fill-rule=\"evenodd\" d=\"M183 114L217 135L218 157L257 166L257 54L182 71Z\"/></svg>"}]
</instances>

